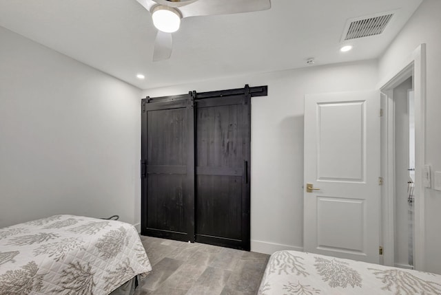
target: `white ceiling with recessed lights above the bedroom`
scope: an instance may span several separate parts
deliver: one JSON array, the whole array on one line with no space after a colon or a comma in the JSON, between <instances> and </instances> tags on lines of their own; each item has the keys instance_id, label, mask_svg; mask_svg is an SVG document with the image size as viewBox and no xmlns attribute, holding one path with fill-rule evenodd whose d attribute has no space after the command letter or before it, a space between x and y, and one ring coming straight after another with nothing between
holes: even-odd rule
<instances>
[{"instance_id":1,"label":"white ceiling with recessed lights above the bedroom","mask_svg":"<svg viewBox=\"0 0 441 295\"><path fill-rule=\"evenodd\" d=\"M198 0L204 1L204 0ZM377 58L422 0L272 0L261 12L183 19L172 57L136 0L0 0L0 25L141 89ZM339 52L348 19L397 10L384 33ZM0 40L1 44L1 40ZM145 80L136 74L145 75Z\"/></svg>"}]
</instances>

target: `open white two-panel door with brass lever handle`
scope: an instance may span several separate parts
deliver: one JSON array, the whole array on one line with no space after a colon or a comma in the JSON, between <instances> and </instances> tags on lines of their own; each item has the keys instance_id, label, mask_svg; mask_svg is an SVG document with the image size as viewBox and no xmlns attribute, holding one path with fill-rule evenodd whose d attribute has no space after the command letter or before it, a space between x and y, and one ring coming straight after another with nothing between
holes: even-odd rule
<instances>
[{"instance_id":1,"label":"open white two-panel door with brass lever handle","mask_svg":"<svg viewBox=\"0 0 441 295\"><path fill-rule=\"evenodd\" d=\"M380 91L306 95L305 252L379 263L379 176Z\"/></svg>"}]
</instances>

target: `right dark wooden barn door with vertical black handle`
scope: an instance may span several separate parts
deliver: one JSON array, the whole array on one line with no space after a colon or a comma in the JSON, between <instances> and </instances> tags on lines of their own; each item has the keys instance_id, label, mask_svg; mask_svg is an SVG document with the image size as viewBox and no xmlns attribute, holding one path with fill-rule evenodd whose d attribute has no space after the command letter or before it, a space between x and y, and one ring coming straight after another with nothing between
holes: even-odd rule
<instances>
[{"instance_id":1,"label":"right dark wooden barn door with vertical black handle","mask_svg":"<svg viewBox=\"0 0 441 295\"><path fill-rule=\"evenodd\" d=\"M196 99L196 241L249 250L250 96Z\"/></svg>"}]
</instances>

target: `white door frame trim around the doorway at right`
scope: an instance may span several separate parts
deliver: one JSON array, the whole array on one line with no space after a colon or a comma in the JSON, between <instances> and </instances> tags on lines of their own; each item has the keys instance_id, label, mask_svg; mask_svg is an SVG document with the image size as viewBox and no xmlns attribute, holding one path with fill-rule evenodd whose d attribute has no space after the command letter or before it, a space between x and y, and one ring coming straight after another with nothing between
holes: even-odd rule
<instances>
[{"instance_id":1,"label":"white door frame trim around the doorway at right","mask_svg":"<svg viewBox=\"0 0 441 295\"><path fill-rule=\"evenodd\" d=\"M424 270L424 186L422 186L422 168L425 163L426 146L426 45L419 45L400 67L397 67L378 86L382 94L387 96L386 108L384 109L384 124L386 130L382 130L385 136L382 140L382 177L384 189L382 190L382 242L384 248L384 265L394 266L394 242L395 242L395 173L394 169L394 136L393 136L393 88L400 85L404 80L413 77L413 90L415 91L415 201L413 223L413 268Z\"/></svg>"}]
</instances>

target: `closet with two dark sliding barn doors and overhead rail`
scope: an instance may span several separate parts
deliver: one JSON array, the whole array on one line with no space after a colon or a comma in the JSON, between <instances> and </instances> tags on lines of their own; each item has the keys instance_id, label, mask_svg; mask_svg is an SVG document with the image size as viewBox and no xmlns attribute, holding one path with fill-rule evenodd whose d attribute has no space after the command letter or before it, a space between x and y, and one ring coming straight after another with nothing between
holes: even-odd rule
<instances>
[{"instance_id":1,"label":"closet with two dark sliding barn doors and overhead rail","mask_svg":"<svg viewBox=\"0 0 441 295\"><path fill-rule=\"evenodd\" d=\"M249 250L248 87L141 102L141 234Z\"/></svg>"}]
</instances>

